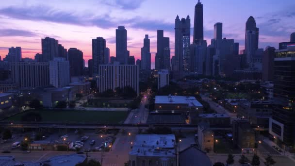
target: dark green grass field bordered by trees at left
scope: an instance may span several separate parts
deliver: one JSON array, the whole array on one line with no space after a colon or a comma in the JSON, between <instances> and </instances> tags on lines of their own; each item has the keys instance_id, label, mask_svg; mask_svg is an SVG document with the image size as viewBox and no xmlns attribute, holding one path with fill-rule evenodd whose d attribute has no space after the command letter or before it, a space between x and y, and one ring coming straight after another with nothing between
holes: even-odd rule
<instances>
[{"instance_id":1,"label":"dark green grass field bordered by trees at left","mask_svg":"<svg viewBox=\"0 0 295 166\"><path fill-rule=\"evenodd\" d=\"M21 122L21 117L29 112L39 113L42 117L41 122L64 123L119 124L124 123L128 116L127 111L31 110L8 117L4 121Z\"/></svg>"}]
</instances>

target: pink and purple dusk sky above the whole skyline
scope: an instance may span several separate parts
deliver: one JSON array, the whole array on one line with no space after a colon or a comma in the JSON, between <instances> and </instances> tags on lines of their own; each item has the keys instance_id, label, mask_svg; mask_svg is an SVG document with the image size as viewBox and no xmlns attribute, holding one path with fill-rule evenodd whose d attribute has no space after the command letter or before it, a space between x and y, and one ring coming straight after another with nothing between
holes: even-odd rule
<instances>
[{"instance_id":1,"label":"pink and purple dusk sky above the whole skyline","mask_svg":"<svg viewBox=\"0 0 295 166\"><path fill-rule=\"evenodd\" d=\"M213 25L223 23L223 37L235 39L240 50L245 43L245 23L249 16L260 28L259 47L290 40L295 32L295 0L201 0L204 10L204 38L211 43ZM149 35L152 67L157 49L157 30L170 37L174 55L175 18L191 18L197 0L0 0L0 56L9 47L21 47L22 57L41 53L41 38L55 38L66 49L83 51L92 58L92 39L106 39L115 56L115 29L125 26L130 55L140 59L145 34ZM193 31L191 31L193 36ZM191 37L192 42L192 37Z\"/></svg>"}]
</instances>

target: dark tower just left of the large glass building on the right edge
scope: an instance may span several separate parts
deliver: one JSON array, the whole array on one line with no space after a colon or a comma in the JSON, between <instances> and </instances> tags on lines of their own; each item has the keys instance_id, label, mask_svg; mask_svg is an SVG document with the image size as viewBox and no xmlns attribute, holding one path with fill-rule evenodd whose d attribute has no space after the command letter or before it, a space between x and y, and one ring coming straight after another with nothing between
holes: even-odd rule
<instances>
[{"instance_id":1,"label":"dark tower just left of the large glass building on the right edge","mask_svg":"<svg viewBox=\"0 0 295 166\"><path fill-rule=\"evenodd\" d=\"M273 81L274 58L276 55L274 47L266 47L262 55L262 81Z\"/></svg>"}]
</instances>

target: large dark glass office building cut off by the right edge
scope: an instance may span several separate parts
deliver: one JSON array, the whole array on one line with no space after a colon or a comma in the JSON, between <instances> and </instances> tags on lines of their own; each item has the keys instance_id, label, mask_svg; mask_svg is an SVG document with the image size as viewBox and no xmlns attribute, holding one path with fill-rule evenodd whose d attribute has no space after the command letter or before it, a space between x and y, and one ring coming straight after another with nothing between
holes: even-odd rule
<instances>
[{"instance_id":1,"label":"large dark glass office building cut off by the right edge","mask_svg":"<svg viewBox=\"0 0 295 166\"><path fill-rule=\"evenodd\" d=\"M275 142L295 150L295 44L276 50L274 59L274 109L269 133Z\"/></svg>"}]
</instances>

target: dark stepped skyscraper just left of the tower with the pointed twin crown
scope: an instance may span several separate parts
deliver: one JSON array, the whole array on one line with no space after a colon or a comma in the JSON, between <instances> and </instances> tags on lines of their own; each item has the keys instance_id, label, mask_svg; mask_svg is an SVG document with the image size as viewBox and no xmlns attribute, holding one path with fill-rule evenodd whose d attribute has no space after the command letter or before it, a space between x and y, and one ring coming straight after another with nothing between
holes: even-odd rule
<instances>
[{"instance_id":1,"label":"dark stepped skyscraper just left of the tower with the pointed twin crown","mask_svg":"<svg viewBox=\"0 0 295 166\"><path fill-rule=\"evenodd\" d=\"M166 52L164 57L165 49L166 49ZM170 54L168 55L168 49L170 50L169 37L164 37L164 31L158 30L157 31L157 53L155 56L155 69L157 70L170 69ZM164 59L167 59L168 56L169 56L169 64L164 64L168 62L167 60L164 62ZM169 68L167 68L167 66L169 66Z\"/></svg>"}]
</instances>

